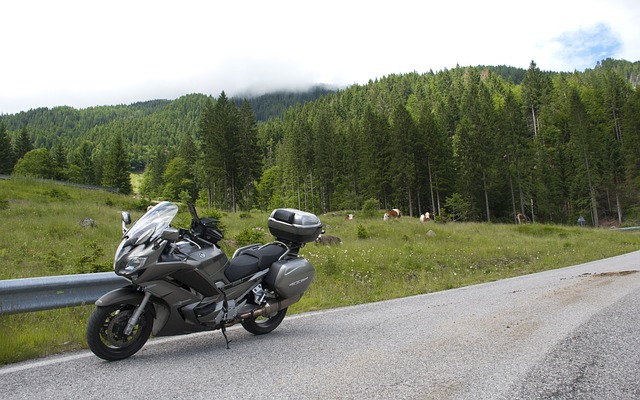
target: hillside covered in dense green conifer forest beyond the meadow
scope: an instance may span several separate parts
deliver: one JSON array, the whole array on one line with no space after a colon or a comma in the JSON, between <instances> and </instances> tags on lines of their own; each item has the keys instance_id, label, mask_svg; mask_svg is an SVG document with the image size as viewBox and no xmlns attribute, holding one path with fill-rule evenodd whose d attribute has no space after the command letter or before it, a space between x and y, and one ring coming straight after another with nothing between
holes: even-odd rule
<instances>
[{"instance_id":1,"label":"hillside covered in dense green conifer forest beyond the meadow","mask_svg":"<svg viewBox=\"0 0 640 400\"><path fill-rule=\"evenodd\" d=\"M369 201L441 220L522 213L621 224L640 218L639 77L640 62L610 59L575 73L534 62L457 66L313 99L272 96L295 99L284 111L224 93L31 110L0 117L0 141L11 142L0 149L13 150L13 163L0 154L0 172L10 164L13 173L81 181L92 171L93 182L118 185L110 170L124 163L115 175L144 170L145 196L227 210L358 210ZM257 119L257 109L275 111Z\"/></svg>"}]
</instances>

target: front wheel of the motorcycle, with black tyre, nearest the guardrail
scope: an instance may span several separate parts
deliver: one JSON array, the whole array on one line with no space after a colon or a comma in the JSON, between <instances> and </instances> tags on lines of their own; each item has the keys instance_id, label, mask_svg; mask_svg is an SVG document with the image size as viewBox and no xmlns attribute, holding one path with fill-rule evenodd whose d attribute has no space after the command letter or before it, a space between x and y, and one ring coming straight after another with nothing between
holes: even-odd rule
<instances>
[{"instance_id":1,"label":"front wheel of the motorcycle, with black tyre, nearest the guardrail","mask_svg":"<svg viewBox=\"0 0 640 400\"><path fill-rule=\"evenodd\" d=\"M130 335L124 330L135 305L114 304L96 307L87 322L87 343L96 356L107 361L131 357L147 342L153 328L153 315L146 309Z\"/></svg>"}]
</instances>

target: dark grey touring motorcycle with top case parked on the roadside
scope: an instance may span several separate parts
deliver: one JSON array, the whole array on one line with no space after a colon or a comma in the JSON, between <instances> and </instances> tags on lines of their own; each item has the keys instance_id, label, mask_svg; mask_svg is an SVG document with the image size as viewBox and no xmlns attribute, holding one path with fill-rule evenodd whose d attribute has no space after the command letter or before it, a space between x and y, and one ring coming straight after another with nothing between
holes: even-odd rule
<instances>
[{"instance_id":1,"label":"dark grey touring motorcycle with top case parked on the roadside","mask_svg":"<svg viewBox=\"0 0 640 400\"><path fill-rule=\"evenodd\" d=\"M170 336L226 328L240 323L254 335L276 329L287 309L313 281L313 266L299 255L322 225L314 214L273 210L267 225L275 237L252 244L229 259L218 246L220 221L200 218L188 205L191 225L176 229L178 206L161 202L131 228L122 212L123 237L115 253L115 273L131 284L100 297L87 322L86 337L98 357L132 356L151 335Z\"/></svg>"}]
</instances>

